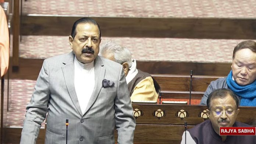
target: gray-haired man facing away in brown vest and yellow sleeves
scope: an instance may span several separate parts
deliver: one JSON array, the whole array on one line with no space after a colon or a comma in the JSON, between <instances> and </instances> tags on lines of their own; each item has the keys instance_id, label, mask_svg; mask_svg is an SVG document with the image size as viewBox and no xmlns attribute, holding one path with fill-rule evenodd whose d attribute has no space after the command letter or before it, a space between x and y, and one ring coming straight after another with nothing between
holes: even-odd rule
<instances>
[{"instance_id":1,"label":"gray-haired man facing away in brown vest and yellow sleeves","mask_svg":"<svg viewBox=\"0 0 256 144\"><path fill-rule=\"evenodd\" d=\"M128 48L115 42L107 42L100 48L100 55L121 64L132 101L157 101L160 86L149 73L136 68Z\"/></svg>"}]
</instances>

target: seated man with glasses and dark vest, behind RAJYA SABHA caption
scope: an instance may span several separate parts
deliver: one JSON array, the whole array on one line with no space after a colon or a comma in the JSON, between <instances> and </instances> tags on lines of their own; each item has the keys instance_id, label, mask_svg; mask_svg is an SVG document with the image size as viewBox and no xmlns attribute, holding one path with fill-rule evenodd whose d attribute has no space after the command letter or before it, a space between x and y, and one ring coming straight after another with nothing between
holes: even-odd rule
<instances>
[{"instance_id":1,"label":"seated man with glasses and dark vest, behind RAJYA SABHA caption","mask_svg":"<svg viewBox=\"0 0 256 144\"><path fill-rule=\"evenodd\" d=\"M238 99L229 89L217 89L207 99L209 119L186 131L187 144L254 144L256 136L220 136L220 127L250 127L237 122ZM185 132L181 144L185 144Z\"/></svg>"}]
</instances>

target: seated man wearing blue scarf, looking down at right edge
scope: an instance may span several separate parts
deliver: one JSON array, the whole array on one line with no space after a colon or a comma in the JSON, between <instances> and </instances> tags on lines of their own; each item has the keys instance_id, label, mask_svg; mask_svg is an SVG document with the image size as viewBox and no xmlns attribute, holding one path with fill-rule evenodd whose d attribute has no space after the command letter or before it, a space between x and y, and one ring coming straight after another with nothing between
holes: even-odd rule
<instances>
[{"instance_id":1,"label":"seated man wearing blue scarf, looking down at right edge","mask_svg":"<svg viewBox=\"0 0 256 144\"><path fill-rule=\"evenodd\" d=\"M216 89L227 88L237 94L240 106L256 106L256 43L246 40L233 51L231 71L226 78L212 81L200 104L206 105L209 94Z\"/></svg>"}]
</instances>

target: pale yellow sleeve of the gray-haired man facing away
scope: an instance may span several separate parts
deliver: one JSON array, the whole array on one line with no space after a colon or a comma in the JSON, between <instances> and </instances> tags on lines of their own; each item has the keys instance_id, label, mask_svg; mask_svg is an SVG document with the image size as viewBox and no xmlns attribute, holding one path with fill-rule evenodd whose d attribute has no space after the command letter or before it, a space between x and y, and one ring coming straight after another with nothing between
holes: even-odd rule
<instances>
[{"instance_id":1,"label":"pale yellow sleeve of the gray-haired man facing away","mask_svg":"<svg viewBox=\"0 0 256 144\"><path fill-rule=\"evenodd\" d=\"M141 80L134 88L131 101L157 101L158 94L151 76Z\"/></svg>"}]
</instances>

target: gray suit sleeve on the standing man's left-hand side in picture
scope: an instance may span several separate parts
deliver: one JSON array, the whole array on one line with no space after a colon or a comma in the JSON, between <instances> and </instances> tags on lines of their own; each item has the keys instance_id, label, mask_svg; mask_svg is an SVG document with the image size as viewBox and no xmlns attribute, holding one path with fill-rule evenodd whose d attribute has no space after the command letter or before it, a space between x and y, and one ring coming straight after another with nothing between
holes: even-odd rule
<instances>
[{"instance_id":1,"label":"gray suit sleeve on the standing man's left-hand side in picture","mask_svg":"<svg viewBox=\"0 0 256 144\"><path fill-rule=\"evenodd\" d=\"M45 120L48 111L49 97L49 68L47 62L44 61L38 79L36 80L31 100L26 107L26 118L21 133L20 144L36 143L41 123Z\"/></svg>"}]
</instances>

